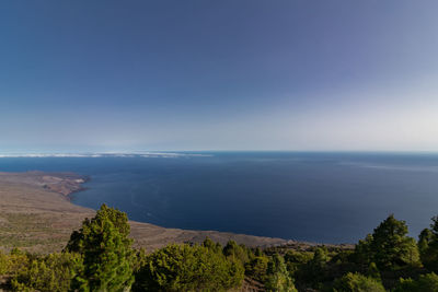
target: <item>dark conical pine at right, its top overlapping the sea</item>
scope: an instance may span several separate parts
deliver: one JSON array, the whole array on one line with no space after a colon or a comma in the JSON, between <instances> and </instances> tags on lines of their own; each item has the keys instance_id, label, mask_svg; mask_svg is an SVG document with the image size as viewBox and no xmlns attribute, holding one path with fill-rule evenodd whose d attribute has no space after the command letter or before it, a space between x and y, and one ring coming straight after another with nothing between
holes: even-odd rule
<instances>
[{"instance_id":1,"label":"dark conical pine at right, its top overlapping the sea","mask_svg":"<svg viewBox=\"0 0 438 292\"><path fill-rule=\"evenodd\" d=\"M372 235L358 243L356 259L366 265L373 261L380 269L391 270L418 265L419 254L414 238L407 236L406 223L391 214Z\"/></svg>"}]
</instances>

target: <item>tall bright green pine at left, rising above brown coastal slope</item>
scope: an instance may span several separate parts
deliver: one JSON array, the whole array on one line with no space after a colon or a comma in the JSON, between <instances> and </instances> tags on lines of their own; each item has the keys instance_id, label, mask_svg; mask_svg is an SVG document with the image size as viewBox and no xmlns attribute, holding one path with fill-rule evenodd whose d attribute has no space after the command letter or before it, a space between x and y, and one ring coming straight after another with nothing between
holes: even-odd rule
<instances>
[{"instance_id":1,"label":"tall bright green pine at left, rising above brown coastal slope","mask_svg":"<svg viewBox=\"0 0 438 292\"><path fill-rule=\"evenodd\" d=\"M80 291L122 291L134 282L132 241L128 238L126 213L103 205L96 215L85 219L71 235L66 250L83 257L83 269L73 278Z\"/></svg>"}]
</instances>

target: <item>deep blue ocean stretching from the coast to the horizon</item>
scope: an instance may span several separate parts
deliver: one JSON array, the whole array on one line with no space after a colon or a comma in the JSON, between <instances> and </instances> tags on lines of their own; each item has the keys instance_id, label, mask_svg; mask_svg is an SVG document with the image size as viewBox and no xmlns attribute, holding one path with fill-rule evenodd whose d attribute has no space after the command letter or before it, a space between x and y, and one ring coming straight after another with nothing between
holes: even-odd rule
<instances>
[{"instance_id":1,"label":"deep blue ocean stretching from the coast to the horizon","mask_svg":"<svg viewBox=\"0 0 438 292\"><path fill-rule=\"evenodd\" d=\"M73 203L136 221L319 243L355 243L390 213L417 237L438 214L438 154L194 154L0 157L0 171L89 175Z\"/></svg>"}]
</instances>

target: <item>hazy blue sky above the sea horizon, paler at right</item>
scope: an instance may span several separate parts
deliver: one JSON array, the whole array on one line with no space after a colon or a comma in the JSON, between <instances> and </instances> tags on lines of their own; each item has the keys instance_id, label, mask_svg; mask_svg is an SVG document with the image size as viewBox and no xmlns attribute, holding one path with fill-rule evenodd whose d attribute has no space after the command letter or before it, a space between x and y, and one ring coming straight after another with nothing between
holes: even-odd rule
<instances>
[{"instance_id":1,"label":"hazy blue sky above the sea horizon, paler at right","mask_svg":"<svg viewBox=\"0 0 438 292\"><path fill-rule=\"evenodd\" d=\"M435 0L0 2L0 152L437 151Z\"/></svg>"}]
</instances>

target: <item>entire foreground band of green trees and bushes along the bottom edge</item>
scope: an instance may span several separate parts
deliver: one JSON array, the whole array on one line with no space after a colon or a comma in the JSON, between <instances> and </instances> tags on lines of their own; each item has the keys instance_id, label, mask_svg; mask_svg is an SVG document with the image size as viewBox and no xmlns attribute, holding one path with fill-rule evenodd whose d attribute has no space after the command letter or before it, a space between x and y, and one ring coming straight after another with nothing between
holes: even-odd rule
<instances>
[{"instance_id":1,"label":"entire foreground band of green trees and bushes along the bottom edge","mask_svg":"<svg viewBox=\"0 0 438 292\"><path fill-rule=\"evenodd\" d=\"M131 247L126 213L103 205L62 253L0 253L2 289L12 291L438 291L438 218L418 241L388 217L354 249L249 248L173 244Z\"/></svg>"}]
</instances>

